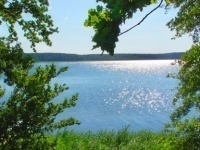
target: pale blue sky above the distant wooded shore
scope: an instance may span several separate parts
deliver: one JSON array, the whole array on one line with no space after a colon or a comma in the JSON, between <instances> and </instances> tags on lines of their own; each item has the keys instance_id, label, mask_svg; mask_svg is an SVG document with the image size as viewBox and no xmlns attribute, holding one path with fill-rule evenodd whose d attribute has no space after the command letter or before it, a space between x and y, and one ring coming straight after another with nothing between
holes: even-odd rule
<instances>
[{"instance_id":1,"label":"pale blue sky above the distant wooded shore","mask_svg":"<svg viewBox=\"0 0 200 150\"><path fill-rule=\"evenodd\" d=\"M59 33L51 36L52 47L39 44L38 52L100 54L100 49L91 50L91 36L94 31L83 26L88 9L96 5L96 0L50 0L49 13L55 26L59 28ZM135 14L133 19L121 26L121 31L138 23L154 7L156 5ZM120 36L115 53L168 53L189 49L192 44L191 37L186 35L171 40L175 33L166 27L166 23L175 15L175 10L169 11L168 14L165 14L164 8L157 10L140 26ZM26 52L31 52L28 44L23 45Z\"/></svg>"}]
</instances>

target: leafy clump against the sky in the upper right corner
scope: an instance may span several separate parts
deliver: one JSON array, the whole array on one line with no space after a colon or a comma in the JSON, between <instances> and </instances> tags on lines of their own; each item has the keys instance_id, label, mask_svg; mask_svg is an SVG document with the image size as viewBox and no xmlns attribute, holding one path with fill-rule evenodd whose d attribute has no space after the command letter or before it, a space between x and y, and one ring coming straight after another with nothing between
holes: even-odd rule
<instances>
[{"instance_id":1,"label":"leafy clump against the sky in the upper right corner","mask_svg":"<svg viewBox=\"0 0 200 150\"><path fill-rule=\"evenodd\" d=\"M200 2L199 0L168 0L168 7L179 8L177 17L168 22L168 27L176 31L175 37L190 33L193 41L199 41Z\"/></svg>"}]
</instances>

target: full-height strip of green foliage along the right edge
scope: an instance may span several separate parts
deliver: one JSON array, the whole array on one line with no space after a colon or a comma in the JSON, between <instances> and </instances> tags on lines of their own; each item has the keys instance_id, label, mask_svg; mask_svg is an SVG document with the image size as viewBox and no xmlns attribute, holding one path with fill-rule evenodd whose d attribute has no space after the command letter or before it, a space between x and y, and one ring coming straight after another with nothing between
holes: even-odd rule
<instances>
[{"instance_id":1,"label":"full-height strip of green foliage along the right edge","mask_svg":"<svg viewBox=\"0 0 200 150\"><path fill-rule=\"evenodd\" d=\"M189 33L194 45L179 61L180 71L175 76L179 79L174 105L179 104L171 115L172 124L166 129L173 129L184 137L179 147L199 149L200 145L200 1L170 0L170 5L179 8L177 16L167 25L176 31L175 37ZM192 112L192 114L190 113ZM189 117L190 116L190 117ZM192 116L192 118L191 118Z\"/></svg>"}]
</instances>

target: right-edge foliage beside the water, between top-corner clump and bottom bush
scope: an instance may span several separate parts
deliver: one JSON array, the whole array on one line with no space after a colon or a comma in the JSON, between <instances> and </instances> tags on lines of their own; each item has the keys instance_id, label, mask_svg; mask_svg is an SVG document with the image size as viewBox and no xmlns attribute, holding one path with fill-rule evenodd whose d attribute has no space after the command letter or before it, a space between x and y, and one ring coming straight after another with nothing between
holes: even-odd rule
<instances>
[{"instance_id":1,"label":"right-edge foliage beside the water, between top-corner clump and bottom bush","mask_svg":"<svg viewBox=\"0 0 200 150\"><path fill-rule=\"evenodd\" d=\"M176 78L180 80L173 103L181 105L172 114L172 121L180 120L194 108L200 111L200 43L195 44L179 61L181 69Z\"/></svg>"}]
</instances>

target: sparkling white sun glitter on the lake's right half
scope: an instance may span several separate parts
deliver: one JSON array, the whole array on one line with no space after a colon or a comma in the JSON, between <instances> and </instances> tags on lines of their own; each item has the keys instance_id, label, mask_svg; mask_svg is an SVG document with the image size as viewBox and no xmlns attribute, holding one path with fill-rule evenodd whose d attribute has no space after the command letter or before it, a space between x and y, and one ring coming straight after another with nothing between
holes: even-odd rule
<instances>
[{"instance_id":1,"label":"sparkling white sun glitter on the lake's right half","mask_svg":"<svg viewBox=\"0 0 200 150\"><path fill-rule=\"evenodd\" d=\"M170 85L167 84L166 75L175 72L177 66L172 67L171 62L173 61L122 61L106 62L104 65L93 63L92 65L112 73L122 72L119 76L115 76L116 80L111 81L111 85L117 86L118 90L112 91L113 87L110 86L109 92L112 94L109 99L104 100L107 105L115 105L113 108L118 108L116 109L118 113L128 110L151 113L172 109L171 98L174 93L169 89ZM127 79L123 80L124 78ZM104 84L108 82L110 81L106 80ZM160 89L160 86L165 86L165 88Z\"/></svg>"}]
</instances>

